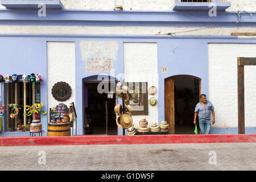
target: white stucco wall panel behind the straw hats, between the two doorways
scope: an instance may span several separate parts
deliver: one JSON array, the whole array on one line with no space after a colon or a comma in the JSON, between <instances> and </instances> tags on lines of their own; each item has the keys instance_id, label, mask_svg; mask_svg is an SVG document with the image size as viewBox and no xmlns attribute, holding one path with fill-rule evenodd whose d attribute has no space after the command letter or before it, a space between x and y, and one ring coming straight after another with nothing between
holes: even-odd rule
<instances>
[{"instance_id":1,"label":"white stucco wall panel behind the straw hats, between the two doorways","mask_svg":"<svg viewBox=\"0 0 256 182\"><path fill-rule=\"evenodd\" d=\"M148 82L148 88L154 85L158 89L158 50L156 43L124 43L124 74L127 82ZM158 92L151 97L158 99ZM158 105L148 104L148 115L133 115L134 127L139 127L139 121L146 118L148 126L158 123Z\"/></svg>"}]
</instances>

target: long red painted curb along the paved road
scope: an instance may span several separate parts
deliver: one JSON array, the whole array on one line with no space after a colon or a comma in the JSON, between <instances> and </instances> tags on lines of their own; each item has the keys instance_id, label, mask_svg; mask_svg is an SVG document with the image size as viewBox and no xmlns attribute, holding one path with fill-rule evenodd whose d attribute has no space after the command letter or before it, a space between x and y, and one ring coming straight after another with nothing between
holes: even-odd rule
<instances>
[{"instance_id":1,"label":"long red painted curb along the paved road","mask_svg":"<svg viewBox=\"0 0 256 182\"><path fill-rule=\"evenodd\" d=\"M256 134L237 135L79 135L74 137L0 137L0 146L51 146L86 144L256 142Z\"/></svg>"}]
</instances>

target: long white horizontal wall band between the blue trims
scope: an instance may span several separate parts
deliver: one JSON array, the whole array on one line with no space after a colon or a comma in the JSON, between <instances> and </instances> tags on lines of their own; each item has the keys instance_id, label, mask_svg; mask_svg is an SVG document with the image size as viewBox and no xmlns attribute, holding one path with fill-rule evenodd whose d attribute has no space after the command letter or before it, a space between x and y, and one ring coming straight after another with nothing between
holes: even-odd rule
<instances>
[{"instance_id":1,"label":"long white horizontal wall band between the blue trims","mask_svg":"<svg viewBox=\"0 0 256 182\"><path fill-rule=\"evenodd\" d=\"M190 32L188 32L190 31ZM231 35L232 32L256 32L256 27L95 27L95 26L0 26L0 34L86 34L86 35Z\"/></svg>"}]
</instances>

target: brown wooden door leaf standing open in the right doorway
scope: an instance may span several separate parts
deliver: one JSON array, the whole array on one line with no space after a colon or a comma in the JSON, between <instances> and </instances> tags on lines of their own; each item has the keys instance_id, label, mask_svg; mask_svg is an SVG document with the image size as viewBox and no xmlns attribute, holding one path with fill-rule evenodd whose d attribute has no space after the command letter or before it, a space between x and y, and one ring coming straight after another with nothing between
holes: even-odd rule
<instances>
[{"instance_id":1,"label":"brown wooden door leaf standing open in the right doorway","mask_svg":"<svg viewBox=\"0 0 256 182\"><path fill-rule=\"evenodd\" d=\"M169 134L175 134L174 78L164 80L164 118L169 125Z\"/></svg>"}]
</instances>

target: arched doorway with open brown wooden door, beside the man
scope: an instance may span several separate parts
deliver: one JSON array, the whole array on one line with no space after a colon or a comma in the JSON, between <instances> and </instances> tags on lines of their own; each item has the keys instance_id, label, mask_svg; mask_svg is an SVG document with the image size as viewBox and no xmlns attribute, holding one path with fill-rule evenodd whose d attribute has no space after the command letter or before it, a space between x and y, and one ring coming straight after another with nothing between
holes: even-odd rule
<instances>
[{"instance_id":1,"label":"arched doorway with open brown wooden door, beside the man","mask_svg":"<svg viewBox=\"0 0 256 182\"><path fill-rule=\"evenodd\" d=\"M164 79L164 116L169 134L194 134L193 113L200 94L199 77L176 75Z\"/></svg>"}]
</instances>

